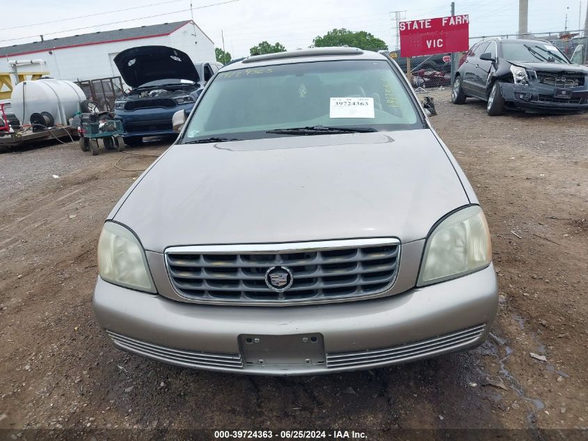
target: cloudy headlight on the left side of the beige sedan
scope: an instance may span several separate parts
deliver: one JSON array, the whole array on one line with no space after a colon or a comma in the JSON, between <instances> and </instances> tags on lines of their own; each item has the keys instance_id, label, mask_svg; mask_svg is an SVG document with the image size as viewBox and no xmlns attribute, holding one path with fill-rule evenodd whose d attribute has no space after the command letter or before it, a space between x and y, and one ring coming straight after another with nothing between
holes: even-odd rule
<instances>
[{"instance_id":1,"label":"cloudy headlight on the left side of the beige sedan","mask_svg":"<svg viewBox=\"0 0 588 441\"><path fill-rule=\"evenodd\" d=\"M98 272L103 280L156 293L143 247L131 231L106 222L98 240Z\"/></svg>"}]
</instances>

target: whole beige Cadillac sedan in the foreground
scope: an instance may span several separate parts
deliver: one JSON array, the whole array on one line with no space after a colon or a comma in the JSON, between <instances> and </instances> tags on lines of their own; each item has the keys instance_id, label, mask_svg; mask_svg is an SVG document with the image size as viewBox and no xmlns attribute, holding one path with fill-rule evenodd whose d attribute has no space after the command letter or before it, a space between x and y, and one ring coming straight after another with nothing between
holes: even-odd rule
<instances>
[{"instance_id":1,"label":"whole beige Cadillac sedan in the foreground","mask_svg":"<svg viewBox=\"0 0 588 441\"><path fill-rule=\"evenodd\" d=\"M394 61L225 66L110 213L93 306L123 350L299 375L478 346L498 305L482 208Z\"/></svg>"}]
</instances>

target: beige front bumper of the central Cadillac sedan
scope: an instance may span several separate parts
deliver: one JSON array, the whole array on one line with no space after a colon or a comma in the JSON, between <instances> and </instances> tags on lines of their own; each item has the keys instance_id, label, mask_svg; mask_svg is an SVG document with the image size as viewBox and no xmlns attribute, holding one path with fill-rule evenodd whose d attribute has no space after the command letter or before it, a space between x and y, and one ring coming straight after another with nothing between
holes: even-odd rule
<instances>
[{"instance_id":1,"label":"beige front bumper of the central Cadillac sedan","mask_svg":"<svg viewBox=\"0 0 588 441\"><path fill-rule=\"evenodd\" d=\"M479 346L496 314L498 286L490 265L377 300L246 307L175 302L99 277L93 307L113 343L138 355L214 371L306 375L372 369ZM282 336L286 342L310 341L311 335L320 336L324 354L312 359L301 354L296 364L251 359L243 343L244 336L278 341ZM283 359L292 359L289 344L278 344L275 352L289 352Z\"/></svg>"}]
</instances>

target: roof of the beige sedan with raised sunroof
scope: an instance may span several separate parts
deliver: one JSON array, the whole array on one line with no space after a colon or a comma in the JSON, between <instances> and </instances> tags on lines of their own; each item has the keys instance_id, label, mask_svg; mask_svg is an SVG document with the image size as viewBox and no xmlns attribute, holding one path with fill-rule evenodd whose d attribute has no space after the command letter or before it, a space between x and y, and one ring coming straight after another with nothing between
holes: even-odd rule
<instances>
[{"instance_id":1,"label":"roof of the beige sedan with raised sunroof","mask_svg":"<svg viewBox=\"0 0 588 441\"><path fill-rule=\"evenodd\" d=\"M388 58L377 52L364 51L357 47L313 47L296 51L276 52L275 54L248 56L241 61L225 65L223 72L276 64L340 60L388 60Z\"/></svg>"}]
</instances>

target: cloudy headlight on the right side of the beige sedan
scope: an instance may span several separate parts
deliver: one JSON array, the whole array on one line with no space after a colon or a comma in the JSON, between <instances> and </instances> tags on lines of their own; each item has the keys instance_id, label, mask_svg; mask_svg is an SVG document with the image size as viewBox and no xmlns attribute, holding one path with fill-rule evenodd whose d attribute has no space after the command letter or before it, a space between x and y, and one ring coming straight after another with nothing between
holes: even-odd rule
<instances>
[{"instance_id":1,"label":"cloudy headlight on the right side of the beige sedan","mask_svg":"<svg viewBox=\"0 0 588 441\"><path fill-rule=\"evenodd\" d=\"M490 232L482 208L463 208L443 219L427 238L418 286L480 270L491 260Z\"/></svg>"}]
</instances>

